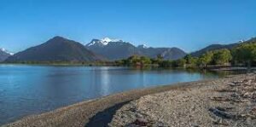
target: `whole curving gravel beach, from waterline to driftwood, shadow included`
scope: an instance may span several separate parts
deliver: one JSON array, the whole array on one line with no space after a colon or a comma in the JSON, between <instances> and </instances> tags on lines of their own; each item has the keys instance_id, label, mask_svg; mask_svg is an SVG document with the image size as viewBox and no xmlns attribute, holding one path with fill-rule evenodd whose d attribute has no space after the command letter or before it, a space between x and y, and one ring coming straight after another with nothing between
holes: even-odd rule
<instances>
[{"instance_id":1,"label":"whole curving gravel beach, from waterline to driftwood, shadow included","mask_svg":"<svg viewBox=\"0 0 256 127\"><path fill-rule=\"evenodd\" d=\"M254 89L253 74L136 89L3 126L253 126Z\"/></svg>"}]
</instances>

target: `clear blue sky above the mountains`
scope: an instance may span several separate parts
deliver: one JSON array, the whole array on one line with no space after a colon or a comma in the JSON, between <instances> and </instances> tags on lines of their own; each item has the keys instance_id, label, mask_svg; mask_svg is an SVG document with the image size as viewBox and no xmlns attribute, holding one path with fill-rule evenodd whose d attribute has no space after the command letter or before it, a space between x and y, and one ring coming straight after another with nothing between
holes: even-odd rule
<instances>
[{"instance_id":1,"label":"clear blue sky above the mountains","mask_svg":"<svg viewBox=\"0 0 256 127\"><path fill-rule=\"evenodd\" d=\"M0 47L18 52L59 35L190 52L256 37L255 23L253 0L1 0Z\"/></svg>"}]
</instances>

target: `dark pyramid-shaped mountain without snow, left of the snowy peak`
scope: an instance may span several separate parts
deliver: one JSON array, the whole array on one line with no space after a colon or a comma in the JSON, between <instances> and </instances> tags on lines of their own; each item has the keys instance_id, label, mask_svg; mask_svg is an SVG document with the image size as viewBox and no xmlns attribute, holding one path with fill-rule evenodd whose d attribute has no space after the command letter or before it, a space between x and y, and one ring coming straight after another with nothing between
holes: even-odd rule
<instances>
[{"instance_id":1,"label":"dark pyramid-shaped mountain without snow, left of the snowy peak","mask_svg":"<svg viewBox=\"0 0 256 127\"><path fill-rule=\"evenodd\" d=\"M86 49L83 44L56 36L46 43L21 51L10 56L6 62L38 61L38 62L81 62L101 61L103 58Z\"/></svg>"}]
</instances>

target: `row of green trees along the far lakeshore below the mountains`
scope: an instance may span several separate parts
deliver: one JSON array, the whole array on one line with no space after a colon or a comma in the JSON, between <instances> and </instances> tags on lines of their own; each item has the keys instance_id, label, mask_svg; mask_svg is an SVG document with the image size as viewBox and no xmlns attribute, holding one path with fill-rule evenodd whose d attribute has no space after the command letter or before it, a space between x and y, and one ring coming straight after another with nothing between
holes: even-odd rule
<instances>
[{"instance_id":1,"label":"row of green trees along the far lakeshore below the mountains","mask_svg":"<svg viewBox=\"0 0 256 127\"><path fill-rule=\"evenodd\" d=\"M186 55L175 61L164 60L161 55L156 58L132 55L131 57L115 61L117 66L160 66L160 67L200 67L208 66L252 66L256 61L256 43L240 43L233 49L217 49L193 57Z\"/></svg>"}]
</instances>

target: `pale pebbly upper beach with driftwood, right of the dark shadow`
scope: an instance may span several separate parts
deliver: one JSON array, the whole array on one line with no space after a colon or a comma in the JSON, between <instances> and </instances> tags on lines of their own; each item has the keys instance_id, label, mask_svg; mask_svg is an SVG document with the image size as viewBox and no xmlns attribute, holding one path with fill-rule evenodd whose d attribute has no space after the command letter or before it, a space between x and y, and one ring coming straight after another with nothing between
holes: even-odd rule
<instances>
[{"instance_id":1,"label":"pale pebbly upper beach with driftwood, right of the dark shadow","mask_svg":"<svg viewBox=\"0 0 256 127\"><path fill-rule=\"evenodd\" d=\"M146 95L114 114L109 126L255 126L255 75L239 75Z\"/></svg>"}]
</instances>

